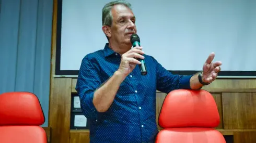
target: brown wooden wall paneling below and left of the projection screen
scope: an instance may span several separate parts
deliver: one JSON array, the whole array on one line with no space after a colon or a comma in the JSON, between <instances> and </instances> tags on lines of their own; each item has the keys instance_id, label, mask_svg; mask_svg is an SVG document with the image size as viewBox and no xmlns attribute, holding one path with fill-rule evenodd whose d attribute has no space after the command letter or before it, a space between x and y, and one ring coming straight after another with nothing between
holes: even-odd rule
<instances>
[{"instance_id":1,"label":"brown wooden wall paneling below and left of the projection screen","mask_svg":"<svg viewBox=\"0 0 256 143\"><path fill-rule=\"evenodd\" d=\"M49 111L51 142L86 143L89 142L88 130L70 129L71 94L76 93L77 79L54 78L56 20L57 0L54 0ZM221 122L216 129L223 135L234 135L235 143L256 142L256 80L217 79L203 89L212 93L218 107ZM165 93L157 92L156 122L165 96Z\"/></svg>"}]
</instances>

